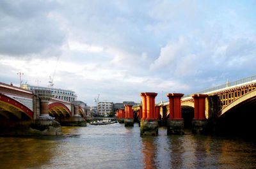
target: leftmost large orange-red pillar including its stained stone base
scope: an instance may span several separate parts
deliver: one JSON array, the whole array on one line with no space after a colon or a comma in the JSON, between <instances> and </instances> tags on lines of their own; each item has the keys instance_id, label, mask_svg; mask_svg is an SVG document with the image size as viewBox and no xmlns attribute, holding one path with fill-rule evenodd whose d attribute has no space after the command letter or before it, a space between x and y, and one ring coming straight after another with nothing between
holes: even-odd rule
<instances>
[{"instance_id":1,"label":"leftmost large orange-red pillar including its stained stone base","mask_svg":"<svg viewBox=\"0 0 256 169\"><path fill-rule=\"evenodd\" d=\"M158 135L158 121L156 120L155 98L156 92L141 93L142 118L140 121L141 135ZM147 112L147 114L146 114Z\"/></svg>"}]
</instances>

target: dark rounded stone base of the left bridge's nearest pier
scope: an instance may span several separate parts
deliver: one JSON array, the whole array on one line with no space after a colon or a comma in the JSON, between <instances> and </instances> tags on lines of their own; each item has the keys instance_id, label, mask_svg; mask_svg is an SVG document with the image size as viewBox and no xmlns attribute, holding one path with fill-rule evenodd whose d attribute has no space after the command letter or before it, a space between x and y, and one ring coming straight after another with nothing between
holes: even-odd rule
<instances>
[{"instance_id":1,"label":"dark rounded stone base of the left bridge's nearest pier","mask_svg":"<svg viewBox=\"0 0 256 169\"><path fill-rule=\"evenodd\" d=\"M62 135L60 122L54 121L50 118L36 119L35 122L29 126L28 133L25 135Z\"/></svg>"}]
</instances>

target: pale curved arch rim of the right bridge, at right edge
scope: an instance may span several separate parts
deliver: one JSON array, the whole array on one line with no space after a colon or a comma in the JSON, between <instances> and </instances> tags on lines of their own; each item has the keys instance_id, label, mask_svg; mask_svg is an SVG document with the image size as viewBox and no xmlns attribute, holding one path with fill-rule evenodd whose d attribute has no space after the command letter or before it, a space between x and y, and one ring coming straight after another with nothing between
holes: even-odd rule
<instances>
[{"instance_id":1,"label":"pale curved arch rim of the right bridge, at right edge","mask_svg":"<svg viewBox=\"0 0 256 169\"><path fill-rule=\"evenodd\" d=\"M256 102L256 90L247 92L240 98L237 98L236 100L229 103L226 107L222 108L220 112L218 112L218 116L225 114L226 112L229 112L230 110L238 107L239 105L245 103L246 101L255 101Z\"/></svg>"}]
</instances>

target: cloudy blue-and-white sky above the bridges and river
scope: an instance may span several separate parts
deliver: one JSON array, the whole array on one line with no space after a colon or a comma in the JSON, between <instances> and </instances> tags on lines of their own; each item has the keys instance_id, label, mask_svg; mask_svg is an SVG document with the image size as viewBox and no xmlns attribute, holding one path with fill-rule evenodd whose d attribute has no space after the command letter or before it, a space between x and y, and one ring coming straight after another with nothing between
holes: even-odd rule
<instances>
[{"instance_id":1,"label":"cloudy blue-and-white sky above the bridges and river","mask_svg":"<svg viewBox=\"0 0 256 169\"><path fill-rule=\"evenodd\" d=\"M0 82L140 102L256 75L256 1L0 1ZM55 72L55 73L54 73Z\"/></svg>"}]
</instances>

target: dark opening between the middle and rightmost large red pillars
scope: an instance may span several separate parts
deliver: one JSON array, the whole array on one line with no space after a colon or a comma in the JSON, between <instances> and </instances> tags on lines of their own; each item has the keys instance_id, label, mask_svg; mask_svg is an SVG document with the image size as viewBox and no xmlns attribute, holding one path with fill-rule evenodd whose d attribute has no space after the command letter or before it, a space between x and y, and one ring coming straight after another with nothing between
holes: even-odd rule
<instances>
[{"instance_id":1,"label":"dark opening between the middle and rightmost large red pillars","mask_svg":"<svg viewBox=\"0 0 256 169\"><path fill-rule=\"evenodd\" d=\"M194 118L194 108L189 106L181 106L181 116L184 120L184 128L191 129Z\"/></svg>"}]
</instances>

